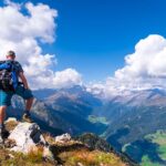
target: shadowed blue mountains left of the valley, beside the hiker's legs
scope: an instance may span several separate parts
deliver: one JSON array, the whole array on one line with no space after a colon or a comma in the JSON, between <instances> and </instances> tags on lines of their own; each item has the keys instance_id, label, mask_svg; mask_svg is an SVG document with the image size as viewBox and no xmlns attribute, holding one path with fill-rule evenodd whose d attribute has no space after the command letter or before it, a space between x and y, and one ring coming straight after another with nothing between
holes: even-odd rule
<instances>
[{"instance_id":1,"label":"shadowed blue mountains left of the valley, beside the hiker's legs","mask_svg":"<svg viewBox=\"0 0 166 166\"><path fill-rule=\"evenodd\" d=\"M51 127L53 134L56 134L58 131L60 133L69 132L73 135L83 132L101 134L105 129L105 125L94 125L89 121L89 115L95 107L101 106L102 102L87 93L84 87L40 90L34 91L33 94L35 96L32 108L33 118L44 126ZM19 111L9 110L9 115L15 115L20 118L23 101L15 96L12 105L13 110Z\"/></svg>"}]
</instances>

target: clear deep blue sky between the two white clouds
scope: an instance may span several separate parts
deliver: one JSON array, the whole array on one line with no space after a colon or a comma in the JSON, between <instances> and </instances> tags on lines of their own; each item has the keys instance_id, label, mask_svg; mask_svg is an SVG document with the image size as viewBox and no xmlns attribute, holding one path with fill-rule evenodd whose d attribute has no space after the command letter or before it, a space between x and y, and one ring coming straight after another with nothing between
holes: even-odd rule
<instances>
[{"instance_id":1,"label":"clear deep blue sky between the two white clouds","mask_svg":"<svg viewBox=\"0 0 166 166\"><path fill-rule=\"evenodd\" d=\"M20 1L20 0L18 0ZM148 34L166 35L165 0L31 0L59 11L58 70L74 68L85 82L103 81L124 66L124 56Z\"/></svg>"}]
</instances>

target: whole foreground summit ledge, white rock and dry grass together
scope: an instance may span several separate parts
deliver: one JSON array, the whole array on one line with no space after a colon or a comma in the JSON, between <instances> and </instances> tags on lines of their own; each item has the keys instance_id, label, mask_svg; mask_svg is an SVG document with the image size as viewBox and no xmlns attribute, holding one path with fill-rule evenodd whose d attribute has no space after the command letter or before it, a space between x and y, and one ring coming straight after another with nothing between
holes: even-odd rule
<instances>
[{"instance_id":1,"label":"whole foreground summit ledge, white rock and dry grass together","mask_svg":"<svg viewBox=\"0 0 166 166\"><path fill-rule=\"evenodd\" d=\"M0 166L133 166L114 152L92 148L68 133L56 137L42 133L35 123L9 118L6 128Z\"/></svg>"}]
</instances>

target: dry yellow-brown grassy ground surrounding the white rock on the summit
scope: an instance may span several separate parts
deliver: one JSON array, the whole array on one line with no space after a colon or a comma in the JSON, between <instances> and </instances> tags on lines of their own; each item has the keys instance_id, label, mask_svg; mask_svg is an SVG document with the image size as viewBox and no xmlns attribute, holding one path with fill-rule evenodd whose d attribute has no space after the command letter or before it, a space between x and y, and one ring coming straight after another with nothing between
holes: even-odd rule
<instances>
[{"instance_id":1,"label":"dry yellow-brown grassy ground surrounding the white rock on the summit","mask_svg":"<svg viewBox=\"0 0 166 166\"><path fill-rule=\"evenodd\" d=\"M18 123L6 124L8 131L12 131ZM43 134L50 144L54 160L42 157L42 147L31 151L29 154L14 153L0 147L0 166L128 166L120 156L114 153L92 151L81 142L70 141L68 143L55 143L50 134ZM6 144L4 144L6 145Z\"/></svg>"}]
</instances>

